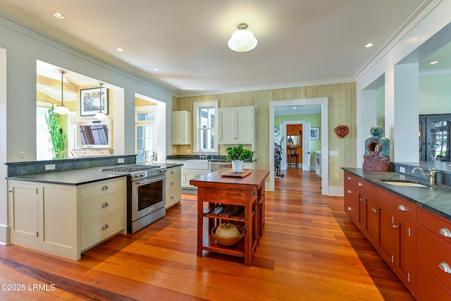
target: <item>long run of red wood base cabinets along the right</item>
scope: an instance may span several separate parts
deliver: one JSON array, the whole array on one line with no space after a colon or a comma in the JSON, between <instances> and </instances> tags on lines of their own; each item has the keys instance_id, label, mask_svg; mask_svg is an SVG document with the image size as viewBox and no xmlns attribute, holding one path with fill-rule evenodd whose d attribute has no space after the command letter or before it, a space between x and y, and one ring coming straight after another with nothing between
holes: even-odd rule
<instances>
[{"instance_id":1,"label":"long run of red wood base cabinets along the right","mask_svg":"<svg viewBox=\"0 0 451 301\"><path fill-rule=\"evenodd\" d=\"M451 300L450 220L348 172L344 204L416 300Z\"/></svg>"}]
</instances>

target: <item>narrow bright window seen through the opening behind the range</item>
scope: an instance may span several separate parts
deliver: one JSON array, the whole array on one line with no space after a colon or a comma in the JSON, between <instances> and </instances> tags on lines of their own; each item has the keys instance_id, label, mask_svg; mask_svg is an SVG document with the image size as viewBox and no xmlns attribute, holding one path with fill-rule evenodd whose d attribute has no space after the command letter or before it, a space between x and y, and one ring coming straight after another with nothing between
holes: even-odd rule
<instances>
[{"instance_id":1,"label":"narrow bright window seen through the opening behind the range","mask_svg":"<svg viewBox=\"0 0 451 301\"><path fill-rule=\"evenodd\" d=\"M144 109L136 113L136 154L138 163L156 161L156 124L152 106L137 107Z\"/></svg>"}]
</instances>

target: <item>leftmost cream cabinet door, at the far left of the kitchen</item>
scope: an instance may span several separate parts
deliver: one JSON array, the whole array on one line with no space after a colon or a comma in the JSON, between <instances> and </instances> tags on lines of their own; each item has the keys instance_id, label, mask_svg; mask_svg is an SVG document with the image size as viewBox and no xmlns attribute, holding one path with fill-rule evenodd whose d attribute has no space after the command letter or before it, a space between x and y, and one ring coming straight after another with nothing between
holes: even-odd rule
<instances>
[{"instance_id":1,"label":"leftmost cream cabinet door, at the far left of the kitchen","mask_svg":"<svg viewBox=\"0 0 451 301\"><path fill-rule=\"evenodd\" d=\"M39 186L37 183L9 181L11 235L37 240Z\"/></svg>"}]
</instances>

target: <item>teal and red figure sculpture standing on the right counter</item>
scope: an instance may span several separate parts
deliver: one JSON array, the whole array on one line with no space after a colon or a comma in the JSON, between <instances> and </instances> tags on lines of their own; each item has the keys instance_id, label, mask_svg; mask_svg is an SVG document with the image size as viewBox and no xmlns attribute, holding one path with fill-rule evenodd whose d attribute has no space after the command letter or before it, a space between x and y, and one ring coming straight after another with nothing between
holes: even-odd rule
<instances>
[{"instance_id":1,"label":"teal and red figure sculpture standing on the right counter","mask_svg":"<svg viewBox=\"0 0 451 301\"><path fill-rule=\"evenodd\" d=\"M390 171L390 140L383 137L383 128L371 127L372 137L365 140L363 169L369 171Z\"/></svg>"}]
</instances>

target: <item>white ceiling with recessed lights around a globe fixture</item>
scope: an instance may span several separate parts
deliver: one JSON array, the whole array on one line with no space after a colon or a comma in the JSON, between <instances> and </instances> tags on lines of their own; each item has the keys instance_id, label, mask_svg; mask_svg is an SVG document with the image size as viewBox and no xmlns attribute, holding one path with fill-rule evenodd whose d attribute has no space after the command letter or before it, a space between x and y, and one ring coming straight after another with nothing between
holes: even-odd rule
<instances>
[{"instance_id":1,"label":"white ceiling with recessed lights around a globe fixture","mask_svg":"<svg viewBox=\"0 0 451 301\"><path fill-rule=\"evenodd\" d=\"M0 13L184 96L354 81L431 1L0 0ZM238 23L254 50L228 49Z\"/></svg>"}]
</instances>

